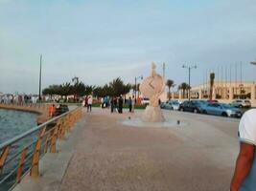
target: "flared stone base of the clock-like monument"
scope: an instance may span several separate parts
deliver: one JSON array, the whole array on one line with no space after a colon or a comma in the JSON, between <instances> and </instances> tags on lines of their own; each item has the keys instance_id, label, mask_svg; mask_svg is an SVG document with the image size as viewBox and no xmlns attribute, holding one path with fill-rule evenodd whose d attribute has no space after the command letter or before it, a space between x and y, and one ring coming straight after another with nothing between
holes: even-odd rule
<instances>
[{"instance_id":1,"label":"flared stone base of the clock-like monument","mask_svg":"<svg viewBox=\"0 0 256 191\"><path fill-rule=\"evenodd\" d=\"M160 107L147 106L144 114L142 115L142 120L144 122L164 122L165 117L160 109Z\"/></svg>"}]
</instances>

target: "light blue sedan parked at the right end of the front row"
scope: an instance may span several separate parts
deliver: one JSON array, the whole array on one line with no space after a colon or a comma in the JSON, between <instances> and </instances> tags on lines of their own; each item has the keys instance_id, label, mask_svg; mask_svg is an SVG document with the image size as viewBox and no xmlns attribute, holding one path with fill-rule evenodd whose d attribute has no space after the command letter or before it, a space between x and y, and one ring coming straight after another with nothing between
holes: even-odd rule
<instances>
[{"instance_id":1,"label":"light blue sedan parked at the right end of the front row","mask_svg":"<svg viewBox=\"0 0 256 191\"><path fill-rule=\"evenodd\" d=\"M240 109L225 103L209 103L202 113L222 117L242 117L243 115Z\"/></svg>"}]
</instances>

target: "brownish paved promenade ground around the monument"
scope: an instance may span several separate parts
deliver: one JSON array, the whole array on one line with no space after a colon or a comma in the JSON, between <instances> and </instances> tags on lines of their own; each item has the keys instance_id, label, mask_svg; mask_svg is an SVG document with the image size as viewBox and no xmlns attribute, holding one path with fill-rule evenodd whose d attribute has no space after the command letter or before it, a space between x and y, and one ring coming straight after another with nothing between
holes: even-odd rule
<instances>
[{"instance_id":1,"label":"brownish paved promenade ground around the monument","mask_svg":"<svg viewBox=\"0 0 256 191\"><path fill-rule=\"evenodd\" d=\"M238 154L238 119L165 111L186 126L136 128L126 114L84 111L61 191L225 191Z\"/></svg>"}]
</instances>

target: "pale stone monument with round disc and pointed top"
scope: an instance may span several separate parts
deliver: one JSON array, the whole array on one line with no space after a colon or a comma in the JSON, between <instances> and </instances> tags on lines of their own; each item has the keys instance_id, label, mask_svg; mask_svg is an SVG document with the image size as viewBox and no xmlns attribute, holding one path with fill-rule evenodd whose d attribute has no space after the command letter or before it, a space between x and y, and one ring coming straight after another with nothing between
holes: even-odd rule
<instances>
[{"instance_id":1,"label":"pale stone monument with round disc and pointed top","mask_svg":"<svg viewBox=\"0 0 256 191\"><path fill-rule=\"evenodd\" d=\"M151 76L144 79L140 85L140 92L143 96L150 98L150 105L147 106L142 120L145 122L164 122L165 118L159 107L158 100L164 92L165 80L155 72L156 66L151 63Z\"/></svg>"}]
</instances>

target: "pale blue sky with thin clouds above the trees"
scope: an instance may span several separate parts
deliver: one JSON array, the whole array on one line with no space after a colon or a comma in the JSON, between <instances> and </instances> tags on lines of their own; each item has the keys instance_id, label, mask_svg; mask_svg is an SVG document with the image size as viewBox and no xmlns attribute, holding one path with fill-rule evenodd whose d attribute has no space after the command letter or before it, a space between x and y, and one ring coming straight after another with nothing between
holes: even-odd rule
<instances>
[{"instance_id":1,"label":"pale blue sky with thin clouds above the trees","mask_svg":"<svg viewBox=\"0 0 256 191\"><path fill-rule=\"evenodd\" d=\"M37 93L40 54L43 88L75 75L134 83L152 61L176 85L188 82L183 64L198 66L192 85L221 68L235 80L236 66L254 81L255 10L255 0L0 0L0 92Z\"/></svg>"}]
</instances>

